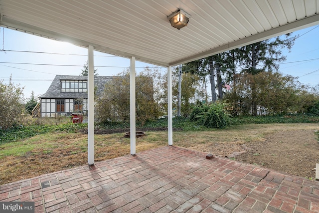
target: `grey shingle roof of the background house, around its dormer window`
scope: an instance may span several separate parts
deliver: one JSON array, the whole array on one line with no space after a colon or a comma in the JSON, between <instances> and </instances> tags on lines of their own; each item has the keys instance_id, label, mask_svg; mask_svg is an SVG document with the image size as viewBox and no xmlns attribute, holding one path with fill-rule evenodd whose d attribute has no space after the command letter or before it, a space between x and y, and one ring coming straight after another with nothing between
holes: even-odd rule
<instances>
[{"instance_id":1,"label":"grey shingle roof of the background house, around its dormer window","mask_svg":"<svg viewBox=\"0 0 319 213\"><path fill-rule=\"evenodd\" d=\"M39 98L87 98L87 92L61 92L61 80L87 80L88 76L56 75L50 87ZM115 76L94 76L94 87L97 87L96 94L103 92L106 82Z\"/></svg>"}]
</instances>

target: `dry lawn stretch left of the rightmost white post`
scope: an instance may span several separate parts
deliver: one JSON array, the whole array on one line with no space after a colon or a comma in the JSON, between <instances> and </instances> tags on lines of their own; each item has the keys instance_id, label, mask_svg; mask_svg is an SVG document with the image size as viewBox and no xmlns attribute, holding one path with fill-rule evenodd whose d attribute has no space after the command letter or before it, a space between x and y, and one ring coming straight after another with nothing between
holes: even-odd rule
<instances>
[{"instance_id":1,"label":"dry lawn stretch left of the rightmost white post","mask_svg":"<svg viewBox=\"0 0 319 213\"><path fill-rule=\"evenodd\" d=\"M165 132L137 138L137 152L165 146ZM95 161L130 154L124 134L95 135ZM49 133L0 146L0 185L87 164L87 135Z\"/></svg>"}]
</instances>

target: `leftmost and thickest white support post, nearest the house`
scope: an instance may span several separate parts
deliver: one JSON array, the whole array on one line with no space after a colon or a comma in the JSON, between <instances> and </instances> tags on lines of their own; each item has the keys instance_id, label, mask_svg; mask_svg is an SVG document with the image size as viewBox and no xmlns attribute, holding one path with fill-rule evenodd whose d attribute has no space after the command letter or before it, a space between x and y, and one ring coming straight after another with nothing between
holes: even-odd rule
<instances>
[{"instance_id":1,"label":"leftmost and thickest white support post, nearest the house","mask_svg":"<svg viewBox=\"0 0 319 213\"><path fill-rule=\"evenodd\" d=\"M88 163L94 164L94 53L88 47Z\"/></svg>"}]
</instances>

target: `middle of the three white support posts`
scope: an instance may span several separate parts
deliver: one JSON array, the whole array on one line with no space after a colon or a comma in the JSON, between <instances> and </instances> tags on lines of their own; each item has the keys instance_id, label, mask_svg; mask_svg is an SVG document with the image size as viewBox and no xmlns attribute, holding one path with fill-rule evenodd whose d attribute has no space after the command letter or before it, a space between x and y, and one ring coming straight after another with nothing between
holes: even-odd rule
<instances>
[{"instance_id":1,"label":"middle of the three white support posts","mask_svg":"<svg viewBox=\"0 0 319 213\"><path fill-rule=\"evenodd\" d=\"M136 107L135 107L135 57L131 58L130 66L130 140L131 155L136 154Z\"/></svg>"}]
</instances>

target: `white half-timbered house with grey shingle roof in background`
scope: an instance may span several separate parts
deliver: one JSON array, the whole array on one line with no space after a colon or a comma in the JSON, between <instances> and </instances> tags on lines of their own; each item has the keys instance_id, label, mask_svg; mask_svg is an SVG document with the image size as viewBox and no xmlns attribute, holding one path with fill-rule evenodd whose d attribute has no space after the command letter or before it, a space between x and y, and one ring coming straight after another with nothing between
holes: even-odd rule
<instances>
[{"instance_id":1,"label":"white half-timbered house with grey shingle roof in background","mask_svg":"<svg viewBox=\"0 0 319 213\"><path fill-rule=\"evenodd\" d=\"M114 76L94 76L95 94L104 90L104 85ZM38 117L67 116L71 113L87 114L87 76L56 75L50 87L39 96L40 103L34 109Z\"/></svg>"}]
</instances>

